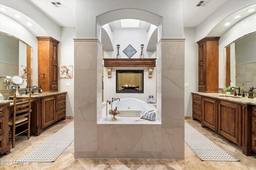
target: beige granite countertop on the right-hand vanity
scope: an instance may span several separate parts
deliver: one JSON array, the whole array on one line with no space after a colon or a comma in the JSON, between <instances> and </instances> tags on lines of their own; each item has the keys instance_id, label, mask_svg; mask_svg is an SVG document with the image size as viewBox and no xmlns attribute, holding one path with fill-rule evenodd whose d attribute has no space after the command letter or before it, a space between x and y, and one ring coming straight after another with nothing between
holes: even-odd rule
<instances>
[{"instance_id":1,"label":"beige granite countertop on the right-hand vanity","mask_svg":"<svg viewBox=\"0 0 256 170\"><path fill-rule=\"evenodd\" d=\"M234 94L223 94L223 93L204 93L204 92L192 92L193 94L199 94L201 96L227 100L230 102L236 102L240 104L248 104L248 105L255 105L256 106L256 98L250 99L248 97L242 98L242 96L234 96Z\"/></svg>"}]
</instances>

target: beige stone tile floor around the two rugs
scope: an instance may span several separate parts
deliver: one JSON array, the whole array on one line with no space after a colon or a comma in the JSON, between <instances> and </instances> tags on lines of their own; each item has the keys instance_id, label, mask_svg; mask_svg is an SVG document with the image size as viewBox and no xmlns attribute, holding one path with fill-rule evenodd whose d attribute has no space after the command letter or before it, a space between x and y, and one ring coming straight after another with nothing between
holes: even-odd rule
<instances>
[{"instance_id":1,"label":"beige stone tile floor around the two rugs","mask_svg":"<svg viewBox=\"0 0 256 170\"><path fill-rule=\"evenodd\" d=\"M185 145L185 159L82 159L74 158L74 142L60 155L55 162L29 162L28 164L13 164L28 151L42 143L52 134L73 121L66 119L46 128L40 136L20 137L14 149L8 155L0 156L0 170L256 170L256 154L245 156L235 144L228 142L208 128L202 128L200 122L192 119L185 121L198 129L212 141L240 159L239 162L201 161L196 154ZM4 161L11 164L3 164Z\"/></svg>"}]
</instances>

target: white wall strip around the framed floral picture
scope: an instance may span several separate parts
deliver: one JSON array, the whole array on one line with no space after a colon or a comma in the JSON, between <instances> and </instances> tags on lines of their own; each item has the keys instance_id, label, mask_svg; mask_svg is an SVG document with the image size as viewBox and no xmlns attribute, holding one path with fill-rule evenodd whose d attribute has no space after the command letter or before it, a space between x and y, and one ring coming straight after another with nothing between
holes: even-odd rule
<instances>
[{"instance_id":1,"label":"white wall strip around the framed floral picture","mask_svg":"<svg viewBox=\"0 0 256 170\"><path fill-rule=\"evenodd\" d=\"M66 91L66 116L74 116L74 40L76 28L62 27L59 43L59 65L73 65L73 78L59 78L59 91ZM69 83L70 86L66 86Z\"/></svg>"}]
</instances>

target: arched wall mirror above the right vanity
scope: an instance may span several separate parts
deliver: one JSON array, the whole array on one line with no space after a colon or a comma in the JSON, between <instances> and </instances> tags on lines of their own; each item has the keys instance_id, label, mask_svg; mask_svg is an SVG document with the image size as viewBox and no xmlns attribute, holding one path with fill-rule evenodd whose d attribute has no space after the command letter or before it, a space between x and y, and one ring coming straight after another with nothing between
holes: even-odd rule
<instances>
[{"instance_id":1,"label":"arched wall mirror above the right vanity","mask_svg":"<svg viewBox=\"0 0 256 170\"><path fill-rule=\"evenodd\" d=\"M244 90L256 86L256 32L244 35L226 48L224 85Z\"/></svg>"}]
</instances>

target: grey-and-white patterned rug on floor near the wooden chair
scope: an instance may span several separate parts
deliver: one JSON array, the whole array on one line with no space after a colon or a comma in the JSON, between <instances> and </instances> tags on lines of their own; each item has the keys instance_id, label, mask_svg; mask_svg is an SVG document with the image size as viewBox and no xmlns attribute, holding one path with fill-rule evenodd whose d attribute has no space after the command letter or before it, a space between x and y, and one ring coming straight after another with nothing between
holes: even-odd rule
<instances>
[{"instance_id":1,"label":"grey-and-white patterned rug on floor near the wooden chair","mask_svg":"<svg viewBox=\"0 0 256 170\"><path fill-rule=\"evenodd\" d=\"M43 143L30 150L19 160L28 162L54 162L74 141L74 122L64 126Z\"/></svg>"}]
</instances>

